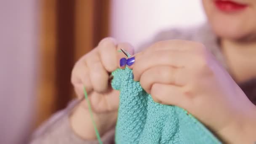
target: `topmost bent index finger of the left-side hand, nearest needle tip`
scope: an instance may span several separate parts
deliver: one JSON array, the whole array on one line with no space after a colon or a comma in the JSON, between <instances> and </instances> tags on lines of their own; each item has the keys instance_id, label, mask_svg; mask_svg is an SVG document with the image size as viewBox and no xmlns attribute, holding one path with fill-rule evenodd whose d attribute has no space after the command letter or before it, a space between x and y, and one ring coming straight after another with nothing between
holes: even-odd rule
<instances>
[{"instance_id":1,"label":"topmost bent index finger of the left-side hand, nearest needle tip","mask_svg":"<svg viewBox=\"0 0 256 144\"><path fill-rule=\"evenodd\" d=\"M112 37L104 38L97 46L97 48L99 49L99 56L101 58L101 62L108 72L112 72L118 67L116 61L119 61L119 59L117 59L116 57L116 46L117 42Z\"/></svg>"}]
</instances>

